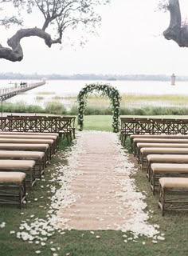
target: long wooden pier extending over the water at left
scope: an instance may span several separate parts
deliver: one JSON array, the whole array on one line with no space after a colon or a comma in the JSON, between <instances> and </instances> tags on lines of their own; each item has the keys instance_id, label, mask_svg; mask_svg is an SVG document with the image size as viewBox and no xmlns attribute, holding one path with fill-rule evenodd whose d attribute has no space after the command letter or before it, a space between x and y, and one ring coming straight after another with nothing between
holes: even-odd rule
<instances>
[{"instance_id":1,"label":"long wooden pier extending over the water at left","mask_svg":"<svg viewBox=\"0 0 188 256\"><path fill-rule=\"evenodd\" d=\"M27 90L32 90L38 86L45 85L45 81L35 82L35 83L26 83L21 82L20 84L15 84L14 87L0 88L0 100L1 102L5 101L8 98L14 97L15 95L22 94Z\"/></svg>"}]
</instances>

